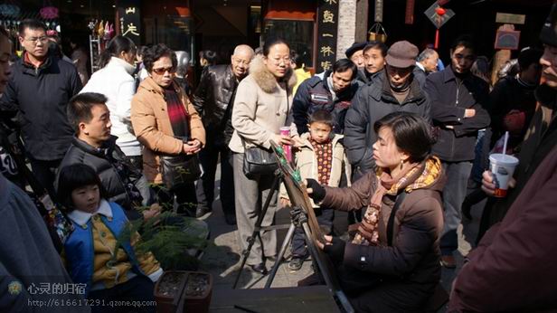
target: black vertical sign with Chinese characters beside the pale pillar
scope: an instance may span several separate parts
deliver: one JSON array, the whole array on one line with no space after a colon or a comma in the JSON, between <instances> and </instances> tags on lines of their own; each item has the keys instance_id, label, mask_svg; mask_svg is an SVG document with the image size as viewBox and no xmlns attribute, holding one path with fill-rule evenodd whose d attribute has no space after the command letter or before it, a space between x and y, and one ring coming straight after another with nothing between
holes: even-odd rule
<instances>
[{"instance_id":1,"label":"black vertical sign with Chinese characters beside the pale pillar","mask_svg":"<svg viewBox=\"0 0 557 313\"><path fill-rule=\"evenodd\" d=\"M338 1L319 0L316 72L330 70L336 60Z\"/></svg>"}]
</instances>

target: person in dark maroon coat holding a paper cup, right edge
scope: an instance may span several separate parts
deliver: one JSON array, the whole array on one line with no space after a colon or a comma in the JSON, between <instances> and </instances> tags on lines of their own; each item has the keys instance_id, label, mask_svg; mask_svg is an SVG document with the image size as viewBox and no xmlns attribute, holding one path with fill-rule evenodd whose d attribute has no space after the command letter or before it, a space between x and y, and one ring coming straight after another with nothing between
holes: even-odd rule
<instances>
[{"instance_id":1,"label":"person in dark maroon coat holding a paper cup, right edge","mask_svg":"<svg viewBox=\"0 0 557 313\"><path fill-rule=\"evenodd\" d=\"M543 25L543 84L524 137L508 212L486 232L453 284L448 312L550 312L557 308L557 5ZM491 173L484 190L493 194Z\"/></svg>"}]
</instances>

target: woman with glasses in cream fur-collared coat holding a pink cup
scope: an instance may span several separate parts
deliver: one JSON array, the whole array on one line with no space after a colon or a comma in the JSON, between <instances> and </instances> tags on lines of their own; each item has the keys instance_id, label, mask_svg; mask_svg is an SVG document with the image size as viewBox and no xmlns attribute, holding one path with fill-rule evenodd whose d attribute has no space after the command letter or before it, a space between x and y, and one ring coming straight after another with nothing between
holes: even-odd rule
<instances>
[{"instance_id":1,"label":"woman with glasses in cream fur-collared coat holding a pink cup","mask_svg":"<svg viewBox=\"0 0 557 313\"><path fill-rule=\"evenodd\" d=\"M282 40L265 43L263 55L250 63L250 75L240 82L236 91L231 118L235 130L229 147L234 154L236 220L242 249L248 246L248 237L253 232L261 204L265 202L275 177L273 174L246 176L243 172L244 148L269 148L271 140L279 145L291 144L290 137L279 135L279 129L284 126L290 127L292 137L297 136L296 126L290 118L296 75L290 68L289 55L288 43ZM276 203L275 197L262 226L273 223ZM260 242L256 240L247 263L252 270L266 273L265 257L277 254L276 232L261 232L261 240L264 255Z\"/></svg>"}]
</instances>

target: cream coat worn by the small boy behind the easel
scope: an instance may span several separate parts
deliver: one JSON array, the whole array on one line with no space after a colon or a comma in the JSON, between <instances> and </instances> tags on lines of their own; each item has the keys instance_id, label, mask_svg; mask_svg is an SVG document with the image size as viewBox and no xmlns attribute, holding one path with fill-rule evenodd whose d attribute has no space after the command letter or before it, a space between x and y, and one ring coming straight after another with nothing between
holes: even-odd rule
<instances>
[{"instance_id":1,"label":"cream coat worn by the small boy behind the easel","mask_svg":"<svg viewBox=\"0 0 557 313\"><path fill-rule=\"evenodd\" d=\"M338 134L333 138L333 165L331 166L329 181L326 184L329 187L338 187L343 175L345 175L346 182L350 186L352 170L345 154L342 138L344 136ZM296 169L299 171L302 179L312 178L317 180L316 152L309 142L309 133L302 134L301 139L304 142L304 146L298 147L294 154ZM280 185L280 197L288 199L284 184ZM319 205L314 204L312 199L309 200L314 207L319 207Z\"/></svg>"}]
</instances>

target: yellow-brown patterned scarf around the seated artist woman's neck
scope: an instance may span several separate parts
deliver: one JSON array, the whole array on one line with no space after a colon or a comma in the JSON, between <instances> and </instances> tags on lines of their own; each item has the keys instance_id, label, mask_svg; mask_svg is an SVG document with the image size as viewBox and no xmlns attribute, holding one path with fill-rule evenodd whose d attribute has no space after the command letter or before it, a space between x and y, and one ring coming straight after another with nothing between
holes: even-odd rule
<instances>
[{"instance_id":1,"label":"yellow-brown patterned scarf around the seated artist woman's neck","mask_svg":"<svg viewBox=\"0 0 557 313\"><path fill-rule=\"evenodd\" d=\"M372 196L370 205L363 215L362 223L358 224L358 232L354 235L352 243L361 245L379 244L379 216L381 213L382 197L385 194L396 195L401 190L410 193L412 190L432 185L441 174L439 158L431 156L421 164L413 164L392 177L389 173L377 170L379 185Z\"/></svg>"}]
</instances>

